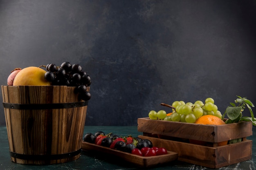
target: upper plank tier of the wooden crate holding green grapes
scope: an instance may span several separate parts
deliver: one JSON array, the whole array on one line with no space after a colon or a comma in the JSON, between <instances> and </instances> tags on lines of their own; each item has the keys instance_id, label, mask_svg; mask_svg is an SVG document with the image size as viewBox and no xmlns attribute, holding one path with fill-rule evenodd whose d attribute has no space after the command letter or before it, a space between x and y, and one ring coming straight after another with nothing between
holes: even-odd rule
<instances>
[{"instance_id":1,"label":"upper plank tier of the wooden crate holding green grapes","mask_svg":"<svg viewBox=\"0 0 256 170\"><path fill-rule=\"evenodd\" d=\"M201 125L183 122L138 118L138 131L218 143L252 135L252 122L244 121L225 125Z\"/></svg>"}]
</instances>

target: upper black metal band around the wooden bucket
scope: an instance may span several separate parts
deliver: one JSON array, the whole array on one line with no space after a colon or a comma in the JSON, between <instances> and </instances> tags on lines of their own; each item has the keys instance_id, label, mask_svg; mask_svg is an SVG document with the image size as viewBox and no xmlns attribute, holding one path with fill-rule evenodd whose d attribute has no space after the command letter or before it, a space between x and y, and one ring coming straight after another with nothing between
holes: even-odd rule
<instances>
[{"instance_id":1,"label":"upper black metal band around the wooden bucket","mask_svg":"<svg viewBox=\"0 0 256 170\"><path fill-rule=\"evenodd\" d=\"M59 109L59 108L76 108L87 106L88 101L72 102L72 103L49 103L49 104L13 104L3 102L4 108L19 110L43 110L43 109Z\"/></svg>"}]
</instances>

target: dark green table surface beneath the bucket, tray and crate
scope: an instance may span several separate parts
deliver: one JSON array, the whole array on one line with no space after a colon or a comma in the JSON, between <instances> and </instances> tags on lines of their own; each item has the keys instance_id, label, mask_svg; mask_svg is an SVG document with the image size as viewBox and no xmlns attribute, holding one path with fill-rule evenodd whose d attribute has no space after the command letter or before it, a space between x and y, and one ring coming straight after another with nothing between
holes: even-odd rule
<instances>
[{"instance_id":1,"label":"dark green table surface beneath the bucket, tray and crate","mask_svg":"<svg viewBox=\"0 0 256 170\"><path fill-rule=\"evenodd\" d=\"M142 135L137 131L137 126L85 126L86 132L103 131L112 132L121 136L132 135L134 137ZM218 170L256 170L256 127L253 127L253 135L247 137L253 140L252 159L236 163L230 166L219 168ZM81 157L76 161L59 163L52 165L24 165L11 162L9 155L9 145L7 130L5 126L0 126L0 170L141 170L129 162L115 160L111 155L97 155L93 152L81 151ZM163 165L147 168L150 170L211 170L182 161L172 161Z\"/></svg>"}]
</instances>

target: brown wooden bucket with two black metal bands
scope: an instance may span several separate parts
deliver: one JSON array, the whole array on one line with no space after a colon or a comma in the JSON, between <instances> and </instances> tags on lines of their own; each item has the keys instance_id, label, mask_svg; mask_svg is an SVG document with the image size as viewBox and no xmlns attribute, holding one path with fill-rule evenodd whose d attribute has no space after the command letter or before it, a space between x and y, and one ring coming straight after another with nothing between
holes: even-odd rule
<instances>
[{"instance_id":1,"label":"brown wooden bucket with two black metal bands","mask_svg":"<svg viewBox=\"0 0 256 170\"><path fill-rule=\"evenodd\" d=\"M11 161L40 165L80 157L88 101L79 100L75 87L1 88Z\"/></svg>"}]
</instances>

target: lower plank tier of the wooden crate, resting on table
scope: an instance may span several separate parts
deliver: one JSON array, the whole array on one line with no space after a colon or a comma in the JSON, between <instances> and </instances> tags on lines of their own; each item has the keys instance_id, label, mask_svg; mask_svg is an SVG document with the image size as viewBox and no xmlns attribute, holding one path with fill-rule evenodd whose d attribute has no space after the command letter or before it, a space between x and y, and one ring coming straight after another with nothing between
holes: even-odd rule
<instances>
[{"instance_id":1,"label":"lower plank tier of the wooden crate, resting on table","mask_svg":"<svg viewBox=\"0 0 256 170\"><path fill-rule=\"evenodd\" d=\"M236 144L228 144L219 147L207 147L189 144L180 141L158 139L139 135L142 139L149 139L153 145L164 147L167 150L177 152L178 160L193 163L208 168L221 168L252 157L252 141L246 140Z\"/></svg>"}]
</instances>

